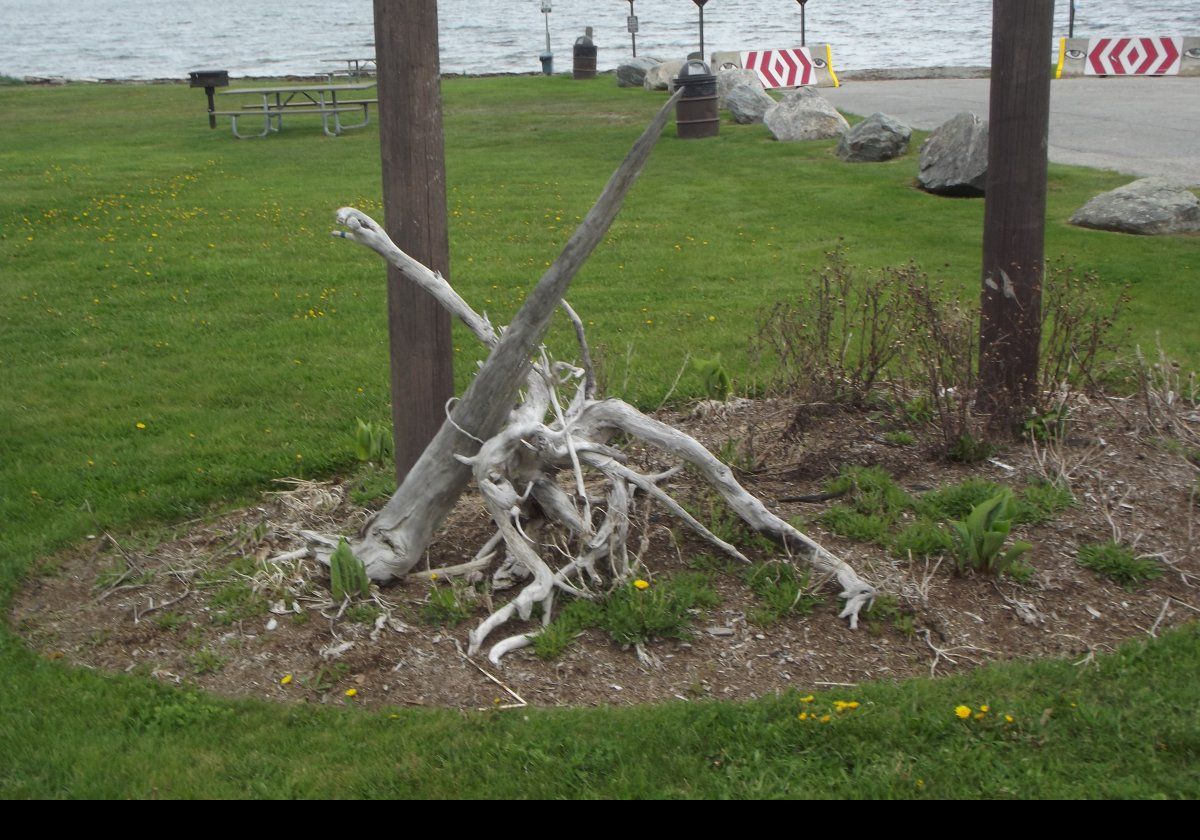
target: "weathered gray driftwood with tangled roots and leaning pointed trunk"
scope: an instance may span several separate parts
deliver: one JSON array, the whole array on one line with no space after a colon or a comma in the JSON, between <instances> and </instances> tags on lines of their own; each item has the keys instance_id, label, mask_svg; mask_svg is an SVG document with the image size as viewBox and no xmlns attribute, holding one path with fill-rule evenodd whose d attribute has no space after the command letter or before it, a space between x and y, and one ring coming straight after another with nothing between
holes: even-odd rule
<instances>
[{"instance_id":1,"label":"weathered gray driftwood with tangled roots and leaning pointed trunk","mask_svg":"<svg viewBox=\"0 0 1200 840\"><path fill-rule=\"evenodd\" d=\"M610 445L618 436L690 464L750 527L779 542L788 556L835 577L846 599L841 614L851 628L875 596L875 589L853 569L768 511L698 442L624 402L596 398L583 323L563 295L612 224L677 97L634 144L563 253L503 330L476 313L440 275L397 248L372 218L352 208L337 212L343 229L335 235L379 253L491 348L418 463L350 544L372 580L384 582L408 574L474 479L497 533L474 560L442 572L479 572L500 560L493 576L497 586L526 582L515 598L472 631L470 654L511 618L528 619L535 605L541 605L542 622L548 623L556 593L596 598L631 580L638 560L626 540L637 494L659 503L718 551L745 560L736 546L709 532L662 488L677 469L647 475L630 468L625 456ZM553 361L540 348L558 307L575 326L581 367ZM604 488L598 491L601 484ZM318 557L328 560L335 541L318 534L307 536ZM534 635L504 638L491 647L488 658L498 662Z\"/></svg>"}]
</instances>

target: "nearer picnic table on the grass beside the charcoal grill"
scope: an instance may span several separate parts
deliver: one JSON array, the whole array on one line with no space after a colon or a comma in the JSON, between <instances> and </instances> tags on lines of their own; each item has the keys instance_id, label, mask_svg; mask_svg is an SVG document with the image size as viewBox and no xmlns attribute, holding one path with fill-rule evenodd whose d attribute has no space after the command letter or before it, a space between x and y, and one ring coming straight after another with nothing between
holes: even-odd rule
<instances>
[{"instance_id":1,"label":"nearer picnic table on the grass beside the charcoal grill","mask_svg":"<svg viewBox=\"0 0 1200 840\"><path fill-rule=\"evenodd\" d=\"M282 131L284 114L317 114L320 116L320 126L326 134L336 137L347 128L361 128L370 121L374 98L347 98L346 95L361 94L374 88L373 82L360 82L358 84L304 84L288 85L284 88L230 88L222 90L217 96L257 96L258 102L241 106L239 110L212 112L216 116L228 116L234 137L246 139L248 137L266 137L272 131ZM341 98L338 98L341 97ZM343 122L343 114L361 114L361 120L356 122ZM263 130L254 134L244 134L238 131L238 119L251 116L263 120Z\"/></svg>"}]
</instances>

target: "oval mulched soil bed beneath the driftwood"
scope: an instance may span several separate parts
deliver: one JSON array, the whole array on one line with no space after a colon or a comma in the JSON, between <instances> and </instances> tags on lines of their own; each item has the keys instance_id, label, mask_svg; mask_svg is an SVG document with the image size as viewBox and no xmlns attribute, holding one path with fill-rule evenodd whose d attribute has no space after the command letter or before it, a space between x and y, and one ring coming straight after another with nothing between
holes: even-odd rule
<instances>
[{"instance_id":1,"label":"oval mulched soil bed beneath the driftwood","mask_svg":"<svg viewBox=\"0 0 1200 840\"><path fill-rule=\"evenodd\" d=\"M748 618L756 596L737 570L706 559L707 546L653 512L643 523L643 577L653 587L672 572L701 568L712 572L721 598L695 616L690 640L652 642L647 650L658 665L648 665L588 630L557 659L544 661L526 648L496 668L466 659L466 636L487 613L488 598L500 601L515 590L485 592L470 618L440 626L428 623L428 605L434 589L448 587L444 578L410 576L382 589L366 608L340 613L314 563L272 566L271 558L302 547L299 530L349 534L367 515L350 500L347 484L308 482L178 527L168 539L96 534L43 563L14 599L12 620L47 656L222 695L480 708L516 703L517 696L535 706L750 698L1014 658L1069 656L1086 665L1096 653L1200 612L1195 468L1177 446L1145 433L1134 402L1099 401L1076 410L1058 452L1080 462L1072 482L1076 504L1051 522L1014 529L1033 544L1033 572L1025 582L959 575L949 557L901 558L839 538L817 522L835 500L780 499L820 493L846 464L882 466L911 493L970 476L1020 488L1043 476L1044 448L1013 444L991 461L954 464L930 460L920 445L889 443L884 433L894 426L882 413L786 400L737 401L661 419L740 464L751 493L784 517L800 517L802 530L894 599L894 608L869 614L851 631L836 617L836 588L829 584L818 588L823 600L810 616L756 626ZM689 481L683 474L671 492L703 509L706 490ZM1076 563L1079 546L1108 540L1114 529L1139 554L1153 556L1162 576L1130 592ZM466 496L427 568L470 559L492 533L482 505ZM748 552L769 557L761 548ZM307 581L307 595L286 594L298 590L298 581Z\"/></svg>"}]
</instances>

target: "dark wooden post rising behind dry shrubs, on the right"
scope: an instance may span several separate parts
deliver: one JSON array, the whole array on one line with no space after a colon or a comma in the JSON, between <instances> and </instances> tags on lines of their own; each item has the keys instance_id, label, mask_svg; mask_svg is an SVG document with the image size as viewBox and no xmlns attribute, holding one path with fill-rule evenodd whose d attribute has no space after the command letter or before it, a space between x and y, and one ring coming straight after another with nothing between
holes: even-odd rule
<instances>
[{"instance_id":1,"label":"dark wooden post rising behind dry shrubs, on the right","mask_svg":"<svg viewBox=\"0 0 1200 840\"><path fill-rule=\"evenodd\" d=\"M1019 421L1038 388L1054 0L994 0L979 332L980 410Z\"/></svg>"}]
</instances>

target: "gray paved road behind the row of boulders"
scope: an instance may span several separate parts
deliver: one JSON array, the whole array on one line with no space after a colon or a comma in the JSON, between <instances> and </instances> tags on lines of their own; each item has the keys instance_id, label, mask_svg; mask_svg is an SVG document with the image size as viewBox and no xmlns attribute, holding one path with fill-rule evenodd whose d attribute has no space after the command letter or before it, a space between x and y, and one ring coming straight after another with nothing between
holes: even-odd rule
<instances>
[{"instance_id":1,"label":"gray paved road behind the row of boulders","mask_svg":"<svg viewBox=\"0 0 1200 840\"><path fill-rule=\"evenodd\" d=\"M961 110L988 118L988 79L846 82L822 94L841 110L881 110L936 128ZM1050 160L1200 185L1200 78L1056 79Z\"/></svg>"}]
</instances>

